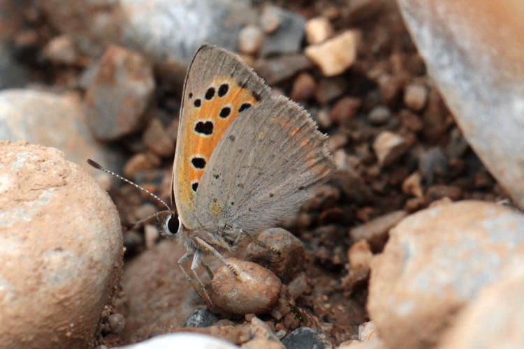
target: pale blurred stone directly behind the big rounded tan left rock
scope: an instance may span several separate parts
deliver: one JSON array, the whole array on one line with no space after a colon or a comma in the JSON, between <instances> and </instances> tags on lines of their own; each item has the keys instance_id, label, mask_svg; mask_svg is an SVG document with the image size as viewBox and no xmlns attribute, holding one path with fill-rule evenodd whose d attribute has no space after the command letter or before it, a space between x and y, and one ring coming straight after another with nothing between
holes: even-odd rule
<instances>
[{"instance_id":1,"label":"pale blurred stone directly behind the big rounded tan left rock","mask_svg":"<svg viewBox=\"0 0 524 349\"><path fill-rule=\"evenodd\" d=\"M103 172L86 165L87 158L110 163L115 168L123 163L122 154L94 140L85 124L80 97L74 93L0 91L0 140L28 140L58 148L97 178L103 177Z\"/></svg>"}]
</instances>

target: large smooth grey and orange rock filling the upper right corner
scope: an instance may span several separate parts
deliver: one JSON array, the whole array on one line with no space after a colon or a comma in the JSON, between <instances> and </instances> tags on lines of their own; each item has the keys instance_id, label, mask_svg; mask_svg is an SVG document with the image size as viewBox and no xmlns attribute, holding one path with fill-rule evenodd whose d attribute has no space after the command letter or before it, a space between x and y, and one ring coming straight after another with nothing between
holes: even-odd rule
<instances>
[{"instance_id":1,"label":"large smooth grey and orange rock filling the upper right corner","mask_svg":"<svg viewBox=\"0 0 524 349\"><path fill-rule=\"evenodd\" d=\"M524 208L524 3L398 3L465 138Z\"/></svg>"}]
</instances>

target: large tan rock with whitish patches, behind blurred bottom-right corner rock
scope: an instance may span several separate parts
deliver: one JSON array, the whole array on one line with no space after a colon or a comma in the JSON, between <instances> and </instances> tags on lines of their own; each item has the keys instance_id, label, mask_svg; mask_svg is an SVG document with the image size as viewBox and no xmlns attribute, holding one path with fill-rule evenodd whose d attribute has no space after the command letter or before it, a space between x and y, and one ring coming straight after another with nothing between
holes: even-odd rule
<instances>
[{"instance_id":1,"label":"large tan rock with whitish patches, behind blurred bottom-right corner rock","mask_svg":"<svg viewBox=\"0 0 524 349\"><path fill-rule=\"evenodd\" d=\"M370 318L388 348L434 346L460 309L518 258L523 214L489 202L439 202L400 222L374 257Z\"/></svg>"}]
</instances>

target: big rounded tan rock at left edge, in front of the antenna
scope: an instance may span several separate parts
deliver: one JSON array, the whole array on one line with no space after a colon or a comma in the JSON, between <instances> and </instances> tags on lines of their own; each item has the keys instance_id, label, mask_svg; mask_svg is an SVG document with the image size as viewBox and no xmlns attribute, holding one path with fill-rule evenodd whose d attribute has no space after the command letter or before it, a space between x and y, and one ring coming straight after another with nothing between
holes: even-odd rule
<instances>
[{"instance_id":1,"label":"big rounded tan rock at left edge, in front of the antenna","mask_svg":"<svg viewBox=\"0 0 524 349\"><path fill-rule=\"evenodd\" d=\"M1 141L0 163L0 343L85 348L122 272L117 209L57 149Z\"/></svg>"}]
</instances>

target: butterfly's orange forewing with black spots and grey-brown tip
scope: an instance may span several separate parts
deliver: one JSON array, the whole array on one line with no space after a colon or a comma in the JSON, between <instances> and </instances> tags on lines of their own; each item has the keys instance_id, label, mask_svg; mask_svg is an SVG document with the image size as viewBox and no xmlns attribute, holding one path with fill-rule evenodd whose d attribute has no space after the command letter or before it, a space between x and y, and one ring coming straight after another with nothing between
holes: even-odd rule
<instances>
[{"instance_id":1,"label":"butterfly's orange forewing with black spots and grey-brown tip","mask_svg":"<svg viewBox=\"0 0 524 349\"><path fill-rule=\"evenodd\" d=\"M200 226L195 198L224 131L269 94L263 80L237 55L211 45L196 52L184 82L173 163L172 197L186 228Z\"/></svg>"}]
</instances>

